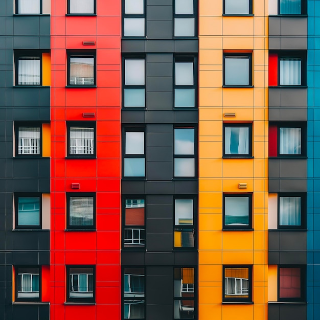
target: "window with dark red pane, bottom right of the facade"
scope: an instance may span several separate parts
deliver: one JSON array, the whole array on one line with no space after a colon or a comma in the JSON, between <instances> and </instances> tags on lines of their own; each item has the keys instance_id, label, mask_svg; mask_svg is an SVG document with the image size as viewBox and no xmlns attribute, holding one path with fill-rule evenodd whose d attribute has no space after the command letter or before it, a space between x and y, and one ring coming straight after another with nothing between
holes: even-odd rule
<instances>
[{"instance_id":1,"label":"window with dark red pane, bottom right of the facade","mask_svg":"<svg viewBox=\"0 0 320 320\"><path fill-rule=\"evenodd\" d=\"M278 266L278 301L305 301L304 266Z\"/></svg>"}]
</instances>

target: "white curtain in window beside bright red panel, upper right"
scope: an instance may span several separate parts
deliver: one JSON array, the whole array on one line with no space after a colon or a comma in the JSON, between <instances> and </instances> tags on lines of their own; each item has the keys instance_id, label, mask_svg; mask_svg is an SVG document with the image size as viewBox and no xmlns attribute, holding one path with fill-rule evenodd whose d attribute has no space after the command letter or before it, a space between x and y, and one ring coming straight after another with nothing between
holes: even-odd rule
<instances>
[{"instance_id":1,"label":"white curtain in window beside bright red panel, upper right","mask_svg":"<svg viewBox=\"0 0 320 320\"><path fill-rule=\"evenodd\" d=\"M301 59L280 59L280 85L301 85Z\"/></svg>"}]
</instances>

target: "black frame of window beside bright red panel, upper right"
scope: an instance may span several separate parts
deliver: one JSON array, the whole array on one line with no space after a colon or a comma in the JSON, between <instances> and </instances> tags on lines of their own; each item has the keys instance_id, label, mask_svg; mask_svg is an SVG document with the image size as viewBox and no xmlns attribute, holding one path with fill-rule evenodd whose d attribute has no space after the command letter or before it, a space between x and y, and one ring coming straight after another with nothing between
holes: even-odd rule
<instances>
[{"instance_id":1,"label":"black frame of window beside bright red panel, upper right","mask_svg":"<svg viewBox=\"0 0 320 320\"><path fill-rule=\"evenodd\" d=\"M270 51L278 55L278 87L306 87L307 86L307 51L306 50L278 50ZM301 59L301 84L280 84L280 60L284 58Z\"/></svg>"}]
</instances>

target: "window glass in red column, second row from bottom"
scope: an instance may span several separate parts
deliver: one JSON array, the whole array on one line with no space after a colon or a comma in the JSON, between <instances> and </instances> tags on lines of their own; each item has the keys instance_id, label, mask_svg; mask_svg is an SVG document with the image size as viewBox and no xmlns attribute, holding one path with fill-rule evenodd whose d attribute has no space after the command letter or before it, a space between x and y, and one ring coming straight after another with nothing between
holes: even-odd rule
<instances>
[{"instance_id":1,"label":"window glass in red column, second row from bottom","mask_svg":"<svg viewBox=\"0 0 320 320\"><path fill-rule=\"evenodd\" d=\"M94 197L71 196L69 200L69 225L94 225Z\"/></svg>"}]
</instances>

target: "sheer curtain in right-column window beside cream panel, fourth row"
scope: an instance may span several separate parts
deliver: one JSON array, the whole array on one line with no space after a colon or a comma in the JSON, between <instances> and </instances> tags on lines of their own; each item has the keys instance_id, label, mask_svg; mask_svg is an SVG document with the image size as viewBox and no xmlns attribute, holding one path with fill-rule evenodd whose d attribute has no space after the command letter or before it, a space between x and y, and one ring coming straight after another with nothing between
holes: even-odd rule
<instances>
[{"instance_id":1,"label":"sheer curtain in right-column window beside cream panel, fourth row","mask_svg":"<svg viewBox=\"0 0 320 320\"><path fill-rule=\"evenodd\" d=\"M280 225L301 225L301 197L280 197Z\"/></svg>"}]
</instances>

